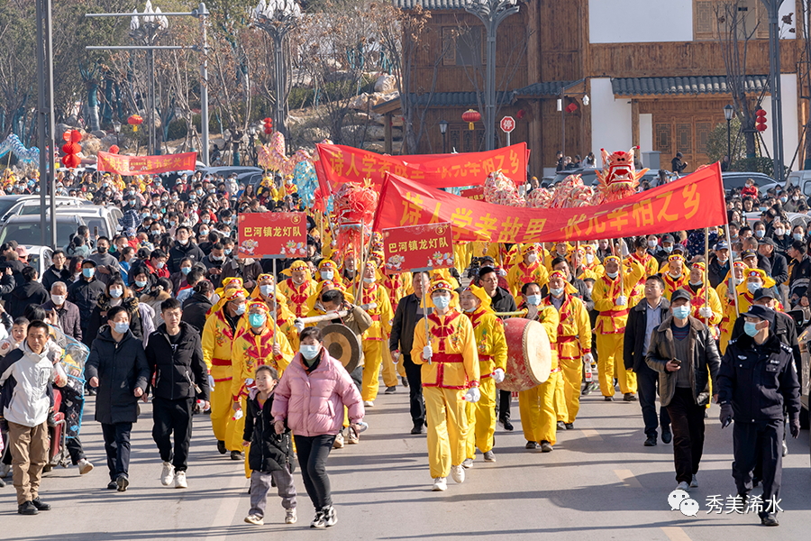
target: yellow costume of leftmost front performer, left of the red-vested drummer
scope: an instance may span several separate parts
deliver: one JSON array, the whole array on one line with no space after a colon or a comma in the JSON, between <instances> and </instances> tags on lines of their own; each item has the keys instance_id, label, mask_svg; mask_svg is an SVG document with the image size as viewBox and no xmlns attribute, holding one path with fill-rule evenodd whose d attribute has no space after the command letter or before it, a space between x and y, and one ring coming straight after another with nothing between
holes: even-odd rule
<instances>
[{"instance_id":1,"label":"yellow costume of leftmost front performer, left of the red-vested drummer","mask_svg":"<svg viewBox=\"0 0 811 541\"><path fill-rule=\"evenodd\" d=\"M224 302L246 298L245 289L230 289L223 297ZM238 316L236 328L228 323L225 316L227 307L220 307L208 316L203 327L203 360L208 373L214 378L211 392L211 427L217 441L225 442L229 451L242 451L242 430L245 419L232 417L232 345L248 325L245 316Z\"/></svg>"}]
</instances>

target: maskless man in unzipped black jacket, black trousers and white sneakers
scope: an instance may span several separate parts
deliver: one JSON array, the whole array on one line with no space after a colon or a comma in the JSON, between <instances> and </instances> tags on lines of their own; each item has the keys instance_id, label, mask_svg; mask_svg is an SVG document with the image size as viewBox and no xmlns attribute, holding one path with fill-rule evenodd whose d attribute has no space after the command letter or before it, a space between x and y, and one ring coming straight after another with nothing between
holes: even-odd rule
<instances>
[{"instance_id":1,"label":"maskless man in unzipped black jacket, black trousers and white sneakers","mask_svg":"<svg viewBox=\"0 0 811 541\"><path fill-rule=\"evenodd\" d=\"M208 409L208 371L203 361L200 333L181 321L183 310L177 298L160 304L163 325L150 335L146 349L152 388L152 439L158 444L163 472L160 482L176 489L188 488L186 470L192 434L192 408L195 399ZM174 456L172 432L175 433Z\"/></svg>"}]
</instances>

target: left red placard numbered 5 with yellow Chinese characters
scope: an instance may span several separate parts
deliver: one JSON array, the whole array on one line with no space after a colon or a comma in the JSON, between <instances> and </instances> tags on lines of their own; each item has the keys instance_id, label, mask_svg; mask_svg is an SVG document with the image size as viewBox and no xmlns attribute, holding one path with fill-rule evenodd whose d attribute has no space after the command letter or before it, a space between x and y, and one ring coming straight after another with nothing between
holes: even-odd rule
<instances>
[{"instance_id":1,"label":"left red placard numbered 5 with yellow Chinese characters","mask_svg":"<svg viewBox=\"0 0 811 541\"><path fill-rule=\"evenodd\" d=\"M241 258L307 256L307 218L303 212L241 214L237 224Z\"/></svg>"}]
</instances>

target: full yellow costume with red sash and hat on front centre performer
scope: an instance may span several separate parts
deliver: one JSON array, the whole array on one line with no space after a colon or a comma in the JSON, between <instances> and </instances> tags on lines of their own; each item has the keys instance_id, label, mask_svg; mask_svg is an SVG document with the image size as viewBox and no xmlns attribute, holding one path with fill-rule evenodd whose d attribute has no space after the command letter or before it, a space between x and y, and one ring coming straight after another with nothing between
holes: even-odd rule
<instances>
[{"instance_id":1,"label":"full yellow costume with red sash and hat on front centre performer","mask_svg":"<svg viewBox=\"0 0 811 541\"><path fill-rule=\"evenodd\" d=\"M432 294L439 290L452 291L443 280L431 286ZM433 348L430 363L423 359L429 342ZM478 387L479 381L476 336L470 320L454 309L444 316L433 312L428 316L428 336L424 325L415 326L411 359L422 365L431 477L444 478L451 472L451 464L458 466L465 459L468 420L462 396L469 387Z\"/></svg>"}]
</instances>

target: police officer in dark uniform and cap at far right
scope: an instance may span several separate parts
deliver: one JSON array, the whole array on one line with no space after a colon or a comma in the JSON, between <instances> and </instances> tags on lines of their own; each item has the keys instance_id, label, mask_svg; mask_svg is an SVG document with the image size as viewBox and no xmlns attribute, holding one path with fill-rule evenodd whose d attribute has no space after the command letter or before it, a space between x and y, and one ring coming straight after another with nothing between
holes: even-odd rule
<instances>
[{"instance_id":1,"label":"police officer in dark uniform and cap at far right","mask_svg":"<svg viewBox=\"0 0 811 541\"><path fill-rule=\"evenodd\" d=\"M761 524L777 520L782 477L783 404L791 436L799 436L799 383L791 348L771 332L775 312L752 305L742 314L743 332L730 340L718 373L721 423L734 418L733 477L744 500L752 491L752 470L761 454L763 475ZM753 503L753 502L751 502Z\"/></svg>"}]
</instances>

